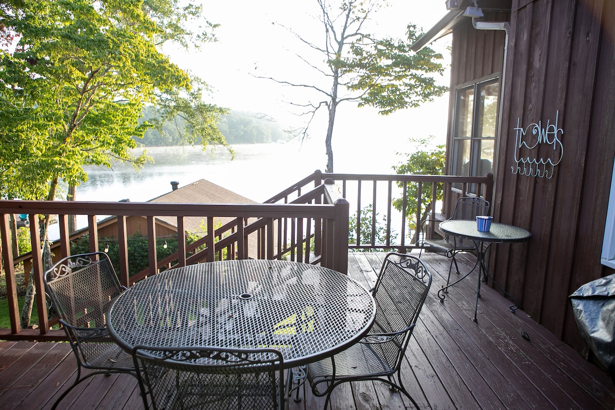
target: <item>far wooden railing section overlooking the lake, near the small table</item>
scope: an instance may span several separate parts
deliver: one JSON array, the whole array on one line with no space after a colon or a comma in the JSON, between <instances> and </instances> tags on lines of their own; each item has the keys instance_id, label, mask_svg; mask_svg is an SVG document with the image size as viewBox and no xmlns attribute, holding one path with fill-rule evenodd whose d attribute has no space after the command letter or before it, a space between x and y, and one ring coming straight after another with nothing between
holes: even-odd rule
<instances>
[{"instance_id":1,"label":"far wooden railing section overlooking the lake, near the small table","mask_svg":"<svg viewBox=\"0 0 615 410\"><path fill-rule=\"evenodd\" d=\"M432 220L440 217L442 210L438 206L442 207L442 201L437 199L438 187L442 188L442 192L454 192L458 197L480 192L489 202L493 200L493 174L475 177L367 175L322 173L317 170L267 202L289 202L310 189L312 184L320 184L323 180L335 182L338 194L349 202L355 230L348 247L355 250L396 249L405 252L416 248L416 238L413 240L413 237L415 232L421 231L422 219L425 216ZM411 187L415 187L416 197L408 197ZM398 207L394 205L396 199ZM415 209L412 224L408 218L410 205L414 205ZM421 213L422 209L427 209L428 215ZM433 236L435 224L430 224L428 229L426 234Z\"/></svg>"}]
</instances>

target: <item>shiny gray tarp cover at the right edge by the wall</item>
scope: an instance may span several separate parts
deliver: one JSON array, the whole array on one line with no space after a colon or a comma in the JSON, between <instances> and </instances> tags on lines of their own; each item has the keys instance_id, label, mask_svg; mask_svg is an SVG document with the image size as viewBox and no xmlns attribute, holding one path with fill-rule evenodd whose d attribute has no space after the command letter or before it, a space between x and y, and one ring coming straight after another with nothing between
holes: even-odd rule
<instances>
[{"instance_id":1,"label":"shiny gray tarp cover at the right edge by the wall","mask_svg":"<svg viewBox=\"0 0 615 410\"><path fill-rule=\"evenodd\" d=\"M615 275L585 283L570 302L579 333L615 382Z\"/></svg>"}]
</instances>

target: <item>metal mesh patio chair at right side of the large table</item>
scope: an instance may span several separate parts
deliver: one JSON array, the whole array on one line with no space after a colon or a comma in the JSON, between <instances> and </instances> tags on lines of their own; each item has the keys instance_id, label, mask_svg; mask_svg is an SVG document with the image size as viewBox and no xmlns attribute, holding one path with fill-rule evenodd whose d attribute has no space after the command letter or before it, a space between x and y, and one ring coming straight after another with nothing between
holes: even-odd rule
<instances>
[{"instance_id":1,"label":"metal mesh patio chair at right side of the large table","mask_svg":"<svg viewBox=\"0 0 615 410\"><path fill-rule=\"evenodd\" d=\"M415 256L389 253L384 259L376 285L376 318L370 332L357 344L330 358L308 365L308 381L315 396L327 396L341 383L381 380L416 401L403 387L402 360L427 292L431 274Z\"/></svg>"}]
</instances>

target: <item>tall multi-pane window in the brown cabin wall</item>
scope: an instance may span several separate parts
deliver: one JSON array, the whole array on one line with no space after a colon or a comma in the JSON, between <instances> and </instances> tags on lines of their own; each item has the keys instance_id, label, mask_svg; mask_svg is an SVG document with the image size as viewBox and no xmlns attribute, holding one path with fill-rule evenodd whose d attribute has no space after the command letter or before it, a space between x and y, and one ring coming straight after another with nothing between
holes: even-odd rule
<instances>
[{"instance_id":1,"label":"tall multi-pane window in the brown cabin wall","mask_svg":"<svg viewBox=\"0 0 615 410\"><path fill-rule=\"evenodd\" d=\"M498 133L498 97L498 78L457 90L451 168L453 175L484 176L493 173ZM453 187L461 189L461 184ZM474 186L470 186L469 191L477 194Z\"/></svg>"}]
</instances>

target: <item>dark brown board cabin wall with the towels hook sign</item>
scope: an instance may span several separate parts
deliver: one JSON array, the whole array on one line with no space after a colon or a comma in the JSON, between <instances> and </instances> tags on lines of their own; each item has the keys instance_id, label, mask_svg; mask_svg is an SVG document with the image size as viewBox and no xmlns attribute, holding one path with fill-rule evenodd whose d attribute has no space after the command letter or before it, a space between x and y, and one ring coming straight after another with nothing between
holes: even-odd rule
<instances>
[{"instance_id":1,"label":"dark brown board cabin wall with the towels hook sign","mask_svg":"<svg viewBox=\"0 0 615 410\"><path fill-rule=\"evenodd\" d=\"M584 355L568 295L614 273L600 264L615 155L613 22L610 0L513 1L502 94L493 216L532 237L494 245L491 272L528 315ZM536 128L549 141L520 148L537 142ZM546 176L523 175L535 170L520 158L557 165Z\"/></svg>"}]
</instances>

